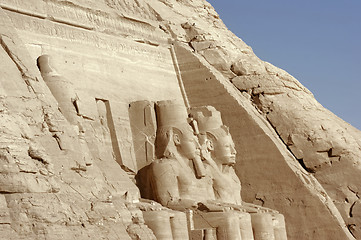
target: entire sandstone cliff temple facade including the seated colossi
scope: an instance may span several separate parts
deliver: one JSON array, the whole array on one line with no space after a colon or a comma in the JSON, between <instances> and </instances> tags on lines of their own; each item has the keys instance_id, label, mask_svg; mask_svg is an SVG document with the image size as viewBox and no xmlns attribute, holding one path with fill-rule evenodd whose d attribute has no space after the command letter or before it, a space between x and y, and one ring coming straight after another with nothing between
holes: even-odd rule
<instances>
[{"instance_id":1,"label":"entire sandstone cliff temple facade including the seated colossi","mask_svg":"<svg viewBox=\"0 0 361 240\"><path fill-rule=\"evenodd\" d=\"M0 0L0 59L0 239L361 239L361 132L205 0Z\"/></svg>"}]
</instances>

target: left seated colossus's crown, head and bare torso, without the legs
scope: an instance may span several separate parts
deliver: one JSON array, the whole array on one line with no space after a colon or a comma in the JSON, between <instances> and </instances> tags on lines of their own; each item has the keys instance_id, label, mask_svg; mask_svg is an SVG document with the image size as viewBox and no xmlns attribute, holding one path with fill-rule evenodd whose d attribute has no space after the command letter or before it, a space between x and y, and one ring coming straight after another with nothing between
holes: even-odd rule
<instances>
[{"instance_id":1,"label":"left seated colossus's crown, head and bare torso, without the legs","mask_svg":"<svg viewBox=\"0 0 361 240\"><path fill-rule=\"evenodd\" d=\"M152 164L155 200L172 209L196 207L212 199L211 178L204 173L197 137L182 105L161 101L156 105L156 156Z\"/></svg>"}]
</instances>

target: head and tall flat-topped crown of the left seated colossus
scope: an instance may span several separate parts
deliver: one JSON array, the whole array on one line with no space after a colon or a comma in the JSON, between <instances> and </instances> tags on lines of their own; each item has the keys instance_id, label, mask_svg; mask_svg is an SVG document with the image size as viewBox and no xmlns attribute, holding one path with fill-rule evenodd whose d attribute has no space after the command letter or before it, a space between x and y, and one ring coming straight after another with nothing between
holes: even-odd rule
<instances>
[{"instance_id":1,"label":"head and tall flat-topped crown of the left seated colossus","mask_svg":"<svg viewBox=\"0 0 361 240\"><path fill-rule=\"evenodd\" d=\"M181 156L194 159L199 148L198 139L187 122L184 105L175 101L159 101L156 103L157 158L174 158Z\"/></svg>"}]
</instances>

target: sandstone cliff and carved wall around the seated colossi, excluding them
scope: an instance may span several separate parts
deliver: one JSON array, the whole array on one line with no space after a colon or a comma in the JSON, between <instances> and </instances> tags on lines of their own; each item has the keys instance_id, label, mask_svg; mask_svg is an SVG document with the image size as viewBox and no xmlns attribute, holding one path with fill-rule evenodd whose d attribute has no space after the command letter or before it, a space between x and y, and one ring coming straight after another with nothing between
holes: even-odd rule
<instances>
[{"instance_id":1,"label":"sandstone cliff and carved wall around the seated colossi, excluding them","mask_svg":"<svg viewBox=\"0 0 361 240\"><path fill-rule=\"evenodd\" d=\"M361 239L360 131L257 58L206 1L0 7L4 239L154 239L128 110L169 99L222 113L242 199L282 213L288 239Z\"/></svg>"}]
</instances>

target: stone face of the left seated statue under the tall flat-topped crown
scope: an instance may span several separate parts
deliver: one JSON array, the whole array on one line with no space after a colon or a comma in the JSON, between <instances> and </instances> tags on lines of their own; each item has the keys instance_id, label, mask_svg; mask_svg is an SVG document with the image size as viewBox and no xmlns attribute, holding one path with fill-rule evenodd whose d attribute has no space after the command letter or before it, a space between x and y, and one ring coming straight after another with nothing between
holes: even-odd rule
<instances>
[{"instance_id":1,"label":"stone face of the left seated statue under the tall flat-topped crown","mask_svg":"<svg viewBox=\"0 0 361 240\"><path fill-rule=\"evenodd\" d=\"M174 134L174 141L178 145L179 153L188 159L194 159L199 152L198 139L190 126L183 129L182 134Z\"/></svg>"}]
</instances>

